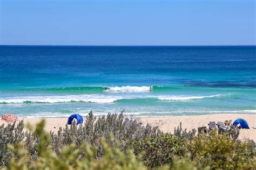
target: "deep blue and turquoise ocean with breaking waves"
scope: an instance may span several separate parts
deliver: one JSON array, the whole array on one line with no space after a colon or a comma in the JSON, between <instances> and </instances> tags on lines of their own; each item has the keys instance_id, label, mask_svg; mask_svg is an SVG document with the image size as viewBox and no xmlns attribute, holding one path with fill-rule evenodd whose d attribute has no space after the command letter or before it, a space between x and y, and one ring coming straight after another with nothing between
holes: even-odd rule
<instances>
[{"instance_id":1,"label":"deep blue and turquoise ocean with breaking waves","mask_svg":"<svg viewBox=\"0 0 256 170\"><path fill-rule=\"evenodd\" d=\"M0 46L0 114L122 109L256 114L256 46Z\"/></svg>"}]
</instances>

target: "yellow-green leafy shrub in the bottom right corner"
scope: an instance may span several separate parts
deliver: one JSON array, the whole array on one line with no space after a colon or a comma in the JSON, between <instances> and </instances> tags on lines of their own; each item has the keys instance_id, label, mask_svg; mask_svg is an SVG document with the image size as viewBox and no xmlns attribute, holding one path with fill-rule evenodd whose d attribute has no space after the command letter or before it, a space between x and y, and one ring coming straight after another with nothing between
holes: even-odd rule
<instances>
[{"instance_id":1,"label":"yellow-green leafy shrub in the bottom right corner","mask_svg":"<svg viewBox=\"0 0 256 170\"><path fill-rule=\"evenodd\" d=\"M255 169L255 150L250 143L234 142L227 134L201 133L187 144L187 152L199 169Z\"/></svg>"}]
</instances>

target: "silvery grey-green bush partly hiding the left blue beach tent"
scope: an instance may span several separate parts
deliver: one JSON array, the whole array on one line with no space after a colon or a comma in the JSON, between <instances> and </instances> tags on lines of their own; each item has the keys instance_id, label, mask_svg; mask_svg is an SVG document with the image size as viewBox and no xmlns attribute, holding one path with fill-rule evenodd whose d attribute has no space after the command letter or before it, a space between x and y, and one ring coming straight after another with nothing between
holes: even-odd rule
<instances>
[{"instance_id":1,"label":"silvery grey-green bush partly hiding the left blue beach tent","mask_svg":"<svg viewBox=\"0 0 256 170\"><path fill-rule=\"evenodd\" d=\"M109 141L109 134L113 134L113 141L120 141L120 148L124 150L127 144L132 140L138 140L145 137L156 136L158 129L152 128L149 124L145 127L138 122L132 121L129 125L124 122L123 112L121 114L108 114L107 116L96 117L92 112L86 116L83 125L66 125L65 128L59 128L57 133L50 132L50 144L54 151L58 151L64 145L75 143L79 146L84 141L90 145L99 145L100 138L104 137ZM98 147L99 157L102 154L101 147Z\"/></svg>"}]
</instances>

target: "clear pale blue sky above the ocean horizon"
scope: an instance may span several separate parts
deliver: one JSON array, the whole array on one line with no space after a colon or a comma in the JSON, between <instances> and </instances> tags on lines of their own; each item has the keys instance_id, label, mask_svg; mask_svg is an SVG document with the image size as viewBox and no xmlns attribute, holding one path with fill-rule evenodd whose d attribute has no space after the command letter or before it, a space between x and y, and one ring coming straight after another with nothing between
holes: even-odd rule
<instances>
[{"instance_id":1,"label":"clear pale blue sky above the ocean horizon","mask_svg":"<svg viewBox=\"0 0 256 170\"><path fill-rule=\"evenodd\" d=\"M256 45L255 1L0 2L1 45Z\"/></svg>"}]
</instances>

